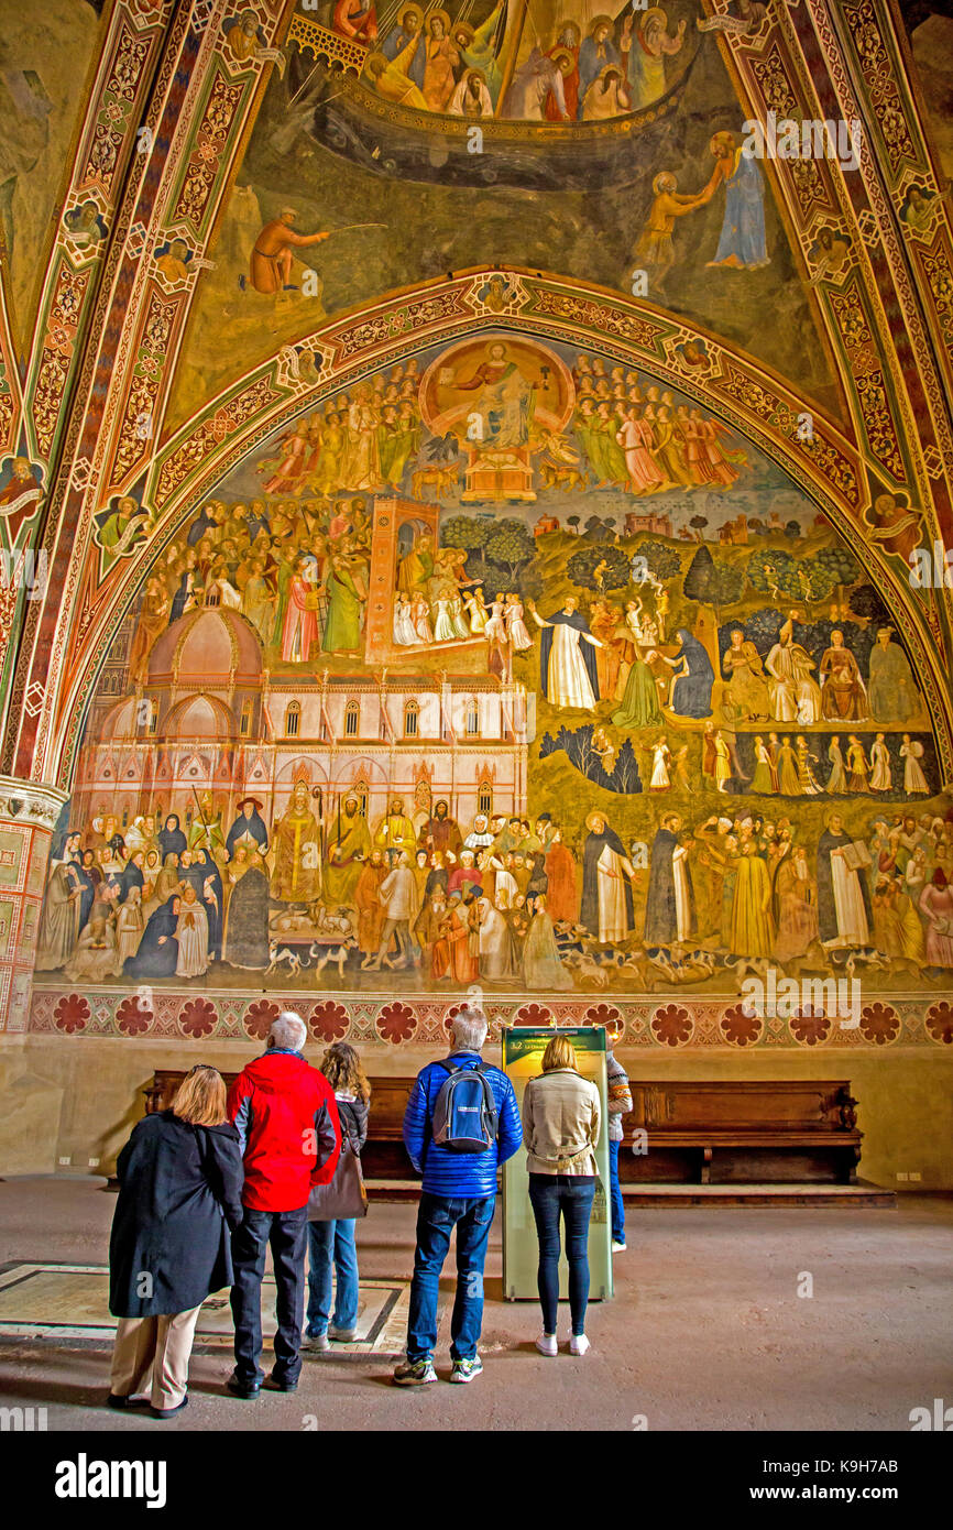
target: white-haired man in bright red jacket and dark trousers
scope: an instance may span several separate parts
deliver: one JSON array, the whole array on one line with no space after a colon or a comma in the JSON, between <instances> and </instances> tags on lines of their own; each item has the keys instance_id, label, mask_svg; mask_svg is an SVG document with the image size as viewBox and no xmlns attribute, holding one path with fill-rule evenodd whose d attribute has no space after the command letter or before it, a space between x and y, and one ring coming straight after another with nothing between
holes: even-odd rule
<instances>
[{"instance_id":1,"label":"white-haired man in bright red jacket and dark trousers","mask_svg":"<svg viewBox=\"0 0 953 1530\"><path fill-rule=\"evenodd\" d=\"M312 1184L330 1184L341 1152L341 1126L324 1074L306 1063L307 1027L286 1010L268 1033L268 1050L239 1074L228 1115L245 1158L242 1226L233 1233L236 1369L226 1386L251 1400L262 1389L262 1276L271 1244L275 1273L275 1360L265 1386L294 1392L301 1374L304 1245Z\"/></svg>"}]
</instances>

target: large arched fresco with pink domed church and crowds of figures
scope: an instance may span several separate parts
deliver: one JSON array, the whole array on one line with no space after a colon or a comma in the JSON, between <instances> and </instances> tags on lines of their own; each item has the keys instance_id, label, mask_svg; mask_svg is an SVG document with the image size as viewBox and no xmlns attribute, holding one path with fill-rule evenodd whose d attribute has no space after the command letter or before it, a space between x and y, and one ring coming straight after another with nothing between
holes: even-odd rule
<instances>
[{"instance_id":1,"label":"large arched fresco with pink domed church and crowds of figures","mask_svg":"<svg viewBox=\"0 0 953 1530\"><path fill-rule=\"evenodd\" d=\"M153 562L40 970L909 990L953 965L948 806L898 621L783 473L646 372L488 332L309 409Z\"/></svg>"}]
</instances>

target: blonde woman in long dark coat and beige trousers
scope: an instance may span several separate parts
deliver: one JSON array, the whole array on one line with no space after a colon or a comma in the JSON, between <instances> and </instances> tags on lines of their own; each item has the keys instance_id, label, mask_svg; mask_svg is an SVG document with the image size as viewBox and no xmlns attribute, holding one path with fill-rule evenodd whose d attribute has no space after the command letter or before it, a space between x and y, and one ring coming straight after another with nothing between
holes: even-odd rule
<instances>
[{"instance_id":1,"label":"blonde woman in long dark coat and beige trousers","mask_svg":"<svg viewBox=\"0 0 953 1530\"><path fill-rule=\"evenodd\" d=\"M171 1109L133 1128L116 1175L109 1310L119 1322L107 1403L128 1408L151 1375L151 1415L170 1418L188 1403L199 1308L234 1279L243 1169L222 1074L197 1063Z\"/></svg>"}]
</instances>

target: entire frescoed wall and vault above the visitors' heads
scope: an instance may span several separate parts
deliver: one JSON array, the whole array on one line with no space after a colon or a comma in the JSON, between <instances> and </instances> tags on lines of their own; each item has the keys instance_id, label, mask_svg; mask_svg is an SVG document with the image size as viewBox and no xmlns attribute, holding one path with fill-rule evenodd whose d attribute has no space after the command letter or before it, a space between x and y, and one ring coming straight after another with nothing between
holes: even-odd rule
<instances>
[{"instance_id":1,"label":"entire frescoed wall and vault above the visitors' heads","mask_svg":"<svg viewBox=\"0 0 953 1530\"><path fill-rule=\"evenodd\" d=\"M2 768L67 794L37 1013L314 990L395 1039L479 985L829 1039L739 1008L777 968L929 1037L948 18L61 12L0 69Z\"/></svg>"}]
</instances>

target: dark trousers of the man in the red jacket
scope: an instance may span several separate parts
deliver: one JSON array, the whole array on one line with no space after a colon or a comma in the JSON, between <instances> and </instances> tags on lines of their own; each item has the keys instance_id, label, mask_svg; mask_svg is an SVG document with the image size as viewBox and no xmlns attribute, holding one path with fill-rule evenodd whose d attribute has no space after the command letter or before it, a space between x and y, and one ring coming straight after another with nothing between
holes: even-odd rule
<instances>
[{"instance_id":1,"label":"dark trousers of the man in the red jacket","mask_svg":"<svg viewBox=\"0 0 953 1530\"><path fill-rule=\"evenodd\" d=\"M301 1372L301 1317L304 1313L304 1229L307 1207L297 1212L255 1212L248 1206L242 1226L231 1235L236 1284L231 1288L231 1314L236 1325L236 1379L246 1385L262 1382L262 1276L271 1244L275 1271L274 1374L297 1382Z\"/></svg>"}]
</instances>

